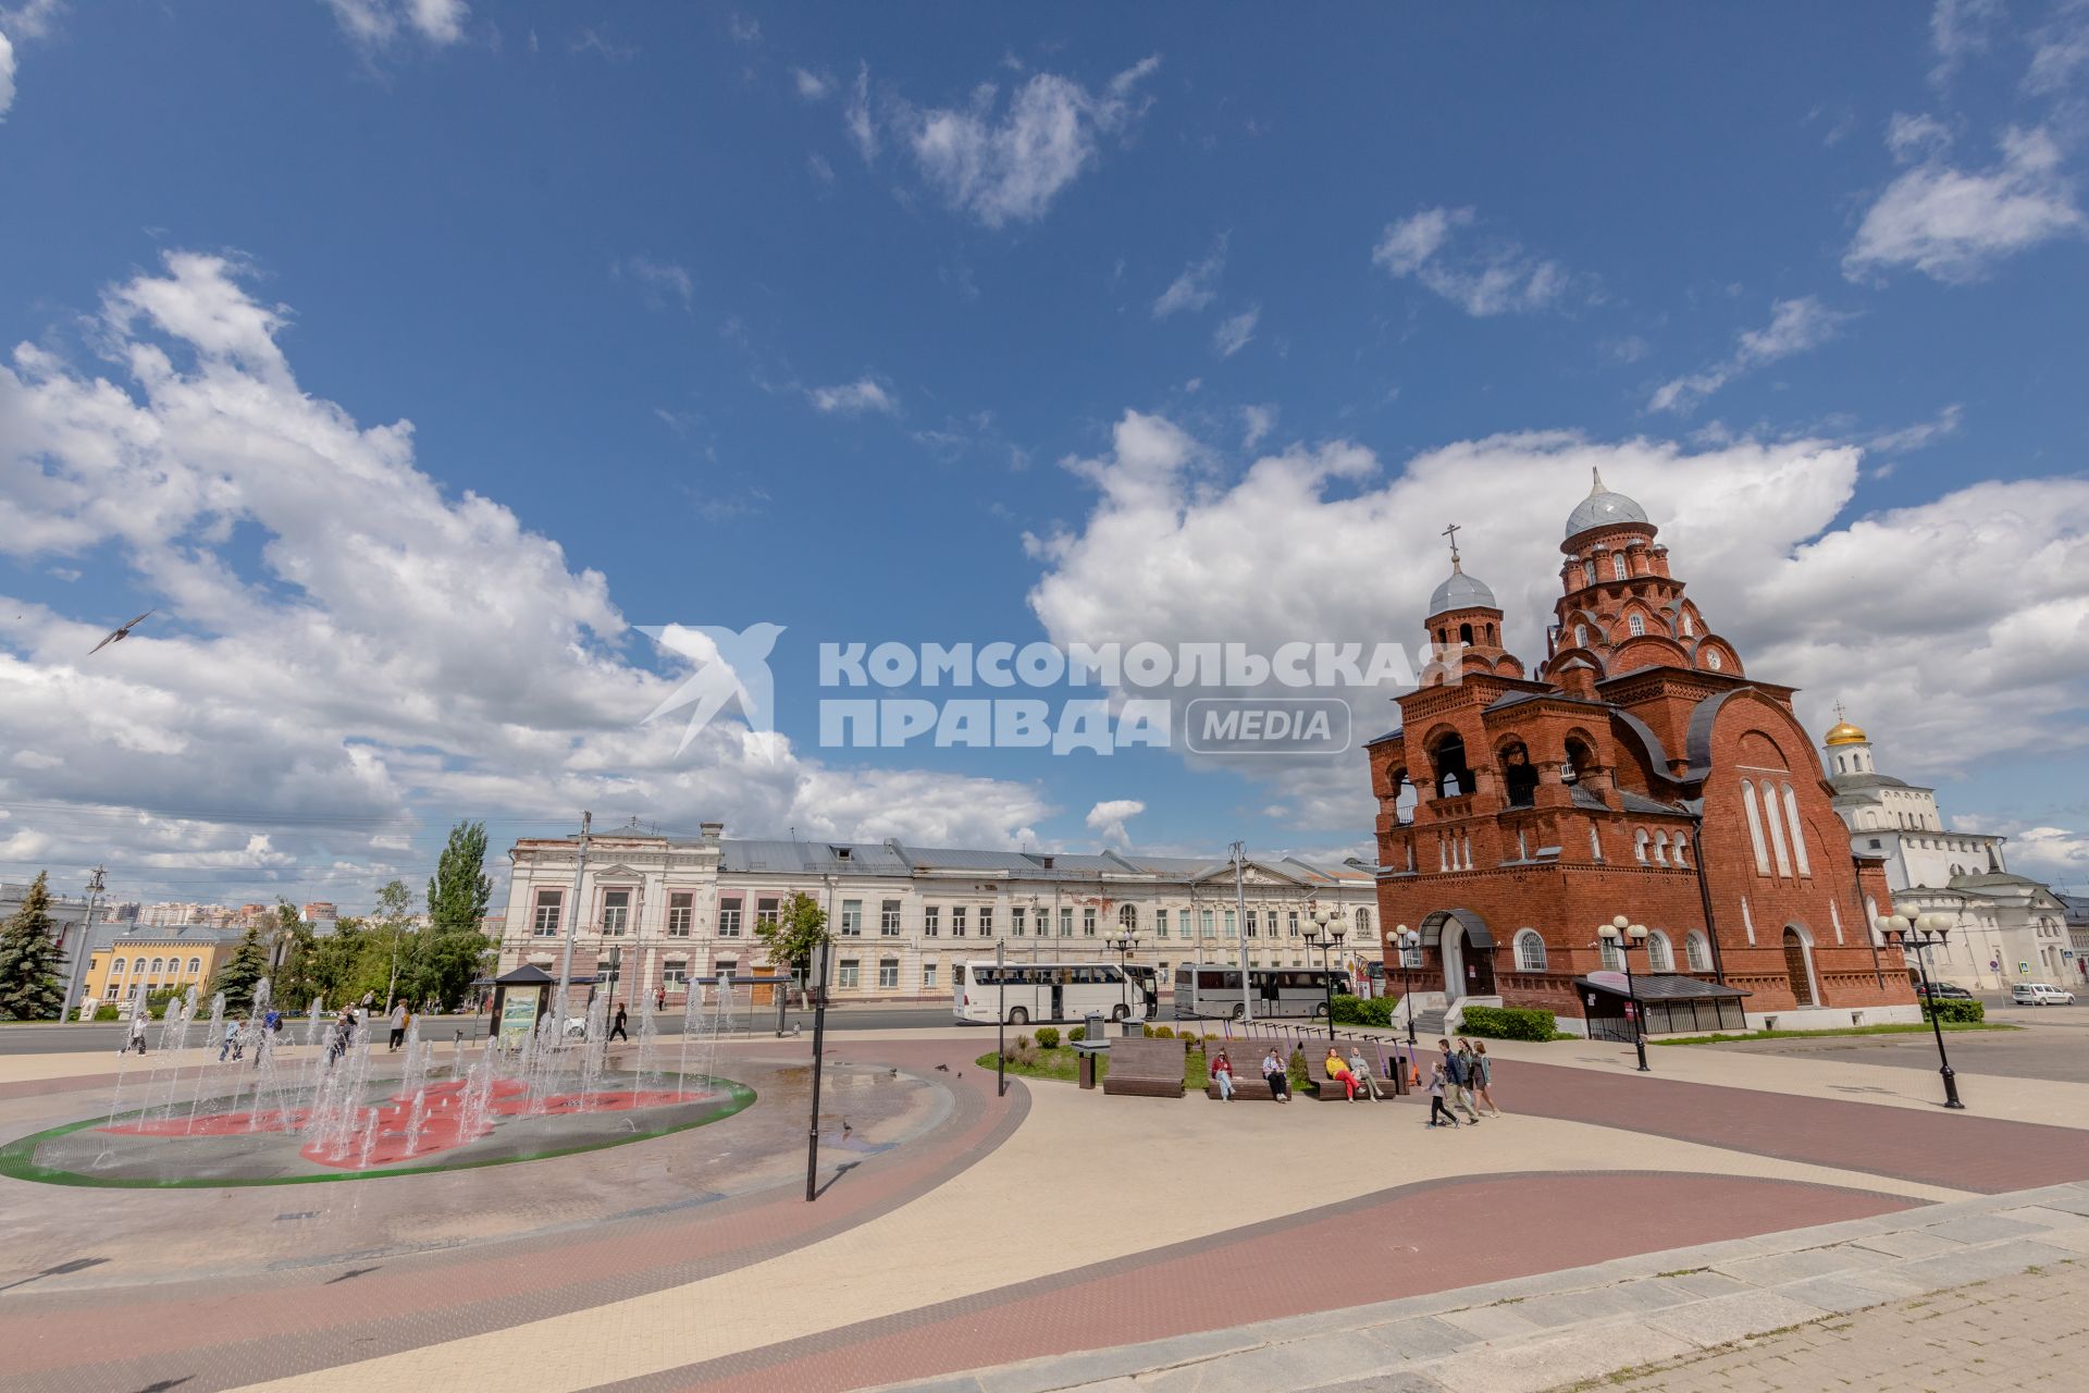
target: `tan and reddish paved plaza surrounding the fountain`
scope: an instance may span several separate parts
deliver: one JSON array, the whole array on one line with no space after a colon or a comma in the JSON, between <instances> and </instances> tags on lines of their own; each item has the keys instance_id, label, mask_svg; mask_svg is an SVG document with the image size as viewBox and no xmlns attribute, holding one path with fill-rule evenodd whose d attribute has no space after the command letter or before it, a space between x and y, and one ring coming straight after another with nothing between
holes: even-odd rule
<instances>
[{"instance_id":1,"label":"tan and reddish paved plaza surrounding the fountain","mask_svg":"<svg viewBox=\"0 0 2089 1393\"><path fill-rule=\"evenodd\" d=\"M1847 1335L1834 1357L1861 1360L1851 1332L1895 1303L2043 1293L2089 1257L2089 1084L1968 1063L1947 1113L1934 1073L1859 1053L1661 1048L1642 1076L1609 1044L1504 1042L1508 1115L1429 1130L1412 1096L996 1096L990 1042L829 1038L817 1203L808 1038L721 1044L752 1105L604 1151L242 1188L0 1178L6 1387L1696 1389L1728 1387L1730 1341L1817 1326L1805 1349ZM0 1147L102 1117L113 1065L0 1061ZM2035 1299L2053 1339L2089 1328Z\"/></svg>"}]
</instances>

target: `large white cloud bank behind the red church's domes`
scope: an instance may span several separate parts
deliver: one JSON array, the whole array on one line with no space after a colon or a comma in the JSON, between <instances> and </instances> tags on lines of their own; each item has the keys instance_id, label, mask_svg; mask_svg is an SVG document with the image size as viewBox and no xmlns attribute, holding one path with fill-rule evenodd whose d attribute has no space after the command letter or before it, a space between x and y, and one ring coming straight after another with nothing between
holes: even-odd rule
<instances>
[{"instance_id":1,"label":"large white cloud bank behind the red church's domes","mask_svg":"<svg viewBox=\"0 0 2089 1393\"><path fill-rule=\"evenodd\" d=\"M1675 574L1748 672L1803 689L1813 729L1840 695L1880 739L1880 766L1891 752L1907 777L2005 752L2079 756L2089 480L1982 482L1840 520L1861 462L1861 449L1824 441L1690 449L1540 432L1443 445L1398 472L1349 441L1293 445L1230 476L1174 422L1128 411L1107 453L1070 462L1099 497L1074 526L1030 541L1044 566L1030 606L1055 643L1412 652L1429 589L1448 572L1437 530L1458 520L1466 572L1494 587L1510 650L1535 666L1558 595L1560 524L1598 466L1661 526ZM1347 695L1360 739L1398 723L1391 689ZM1995 721L1997 708L2010 718ZM1301 827L1368 825L1354 750L1301 762L1276 785Z\"/></svg>"}]
</instances>

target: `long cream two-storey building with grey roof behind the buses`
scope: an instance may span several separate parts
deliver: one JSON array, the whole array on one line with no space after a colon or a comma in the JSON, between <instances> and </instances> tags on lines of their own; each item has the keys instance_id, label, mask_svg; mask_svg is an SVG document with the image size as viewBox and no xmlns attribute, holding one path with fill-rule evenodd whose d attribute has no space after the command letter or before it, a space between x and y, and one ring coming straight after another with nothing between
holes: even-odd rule
<instances>
[{"instance_id":1,"label":"long cream two-storey building with grey roof behind the buses","mask_svg":"<svg viewBox=\"0 0 2089 1393\"><path fill-rule=\"evenodd\" d=\"M1134 936L1130 961L1314 967L1312 902L1341 911L1345 940L1331 965L1383 961L1370 867L1308 865L1251 854L1235 896L1224 856L1118 852L988 852L886 842L729 842L704 823L694 842L589 837L574 908L579 837L522 840L501 921L501 971L524 963L560 973L568 929L572 973L593 977L620 948L618 998L664 988L683 1000L694 977L767 973L756 923L792 892L813 896L836 936L838 1000L948 1000L963 963L1003 946L1013 961L1109 959L1107 940Z\"/></svg>"}]
</instances>

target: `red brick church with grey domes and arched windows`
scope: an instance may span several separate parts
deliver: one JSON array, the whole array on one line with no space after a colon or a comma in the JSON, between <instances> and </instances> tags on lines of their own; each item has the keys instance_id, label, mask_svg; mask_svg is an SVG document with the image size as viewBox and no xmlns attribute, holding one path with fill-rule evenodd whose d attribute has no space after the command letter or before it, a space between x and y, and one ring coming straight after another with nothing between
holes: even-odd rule
<instances>
[{"instance_id":1,"label":"red brick church with grey domes and arched windows","mask_svg":"<svg viewBox=\"0 0 2089 1393\"><path fill-rule=\"evenodd\" d=\"M1629 967L1654 1032L1918 1019L1870 927L1884 871L1851 856L1792 687L1746 677L1646 512L1598 474L1569 514L1535 677L1450 535L1433 662L1368 746L1389 984L1408 925L1425 1007L1623 1023L1623 963L1596 927L1625 915L1650 929Z\"/></svg>"}]
</instances>

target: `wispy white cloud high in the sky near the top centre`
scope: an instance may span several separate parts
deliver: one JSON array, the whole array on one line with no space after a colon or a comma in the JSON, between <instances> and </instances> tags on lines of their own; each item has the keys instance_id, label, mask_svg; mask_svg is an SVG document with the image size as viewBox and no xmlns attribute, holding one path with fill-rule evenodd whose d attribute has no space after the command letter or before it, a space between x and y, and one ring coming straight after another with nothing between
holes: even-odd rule
<instances>
[{"instance_id":1,"label":"wispy white cloud high in the sky near the top centre","mask_svg":"<svg viewBox=\"0 0 2089 1393\"><path fill-rule=\"evenodd\" d=\"M1136 86L1159 67L1143 58L1090 92L1072 77L1038 73L1001 107L986 81L963 109L905 111L900 125L923 178L950 207L988 228L1034 221L1097 159L1097 138L1126 129L1145 111Z\"/></svg>"}]
</instances>

